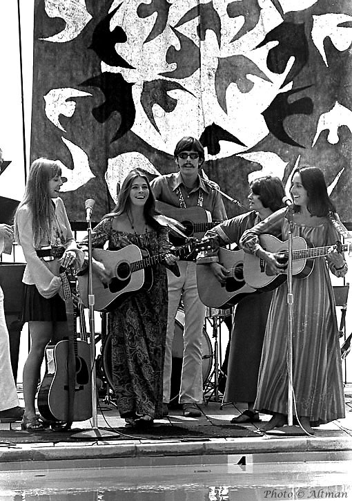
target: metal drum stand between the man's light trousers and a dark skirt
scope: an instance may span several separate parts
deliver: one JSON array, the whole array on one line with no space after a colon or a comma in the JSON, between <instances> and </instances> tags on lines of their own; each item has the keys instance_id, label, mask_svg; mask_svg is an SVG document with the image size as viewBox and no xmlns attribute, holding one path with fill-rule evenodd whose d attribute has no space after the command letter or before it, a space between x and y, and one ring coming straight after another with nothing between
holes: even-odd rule
<instances>
[{"instance_id":1,"label":"metal drum stand between the man's light trousers and a dark skirt","mask_svg":"<svg viewBox=\"0 0 352 501\"><path fill-rule=\"evenodd\" d=\"M219 375L226 378L226 374L220 368L219 363L219 334L221 334L221 325L224 318L232 314L232 308L228 310L218 310L217 308L206 308L206 320L210 321L213 326L213 339L214 339L214 368L208 381L204 386L204 403L208 404L209 401L219 402ZM207 393L211 391L210 395ZM224 397L222 397L222 402Z\"/></svg>"}]
</instances>

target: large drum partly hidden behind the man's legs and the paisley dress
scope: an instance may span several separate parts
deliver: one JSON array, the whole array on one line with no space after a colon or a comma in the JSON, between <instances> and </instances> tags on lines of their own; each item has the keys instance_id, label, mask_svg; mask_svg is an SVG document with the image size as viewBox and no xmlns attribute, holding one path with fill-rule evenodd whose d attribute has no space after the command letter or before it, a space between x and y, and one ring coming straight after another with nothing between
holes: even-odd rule
<instances>
[{"instance_id":1,"label":"large drum partly hidden behind the man's legs and the paisley dress","mask_svg":"<svg viewBox=\"0 0 352 501\"><path fill-rule=\"evenodd\" d=\"M103 347L101 348L101 366L106 376L106 381L111 389L113 386L113 371L111 366L111 332L104 339ZM211 340L208 337L206 330L203 329L202 337L202 375L204 384L206 383L213 364L213 348ZM173 338L173 372L171 375L171 397L175 399L179 394L179 386L181 384L182 359L184 356L184 312L178 310L175 319L175 336Z\"/></svg>"}]
</instances>

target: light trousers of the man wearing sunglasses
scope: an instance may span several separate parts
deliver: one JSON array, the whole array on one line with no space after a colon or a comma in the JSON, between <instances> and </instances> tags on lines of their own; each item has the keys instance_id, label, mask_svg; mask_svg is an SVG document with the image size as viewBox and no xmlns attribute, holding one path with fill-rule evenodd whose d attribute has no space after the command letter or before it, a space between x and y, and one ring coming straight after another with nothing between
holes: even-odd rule
<instances>
[{"instance_id":1,"label":"light trousers of the man wearing sunglasses","mask_svg":"<svg viewBox=\"0 0 352 501\"><path fill-rule=\"evenodd\" d=\"M180 276L168 272L168 326L164 361L163 401L170 401L175 317L182 299L184 306L184 358L182 362L179 403L201 403L203 400L202 335L206 307L197 290L196 264L178 261Z\"/></svg>"}]
</instances>

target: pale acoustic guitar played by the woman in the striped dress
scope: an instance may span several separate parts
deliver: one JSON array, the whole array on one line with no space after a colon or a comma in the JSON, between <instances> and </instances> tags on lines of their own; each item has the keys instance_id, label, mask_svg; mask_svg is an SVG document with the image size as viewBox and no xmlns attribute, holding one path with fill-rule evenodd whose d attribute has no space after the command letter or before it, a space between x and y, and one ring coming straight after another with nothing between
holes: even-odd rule
<instances>
[{"instance_id":1,"label":"pale acoustic guitar played by the woman in the striped dress","mask_svg":"<svg viewBox=\"0 0 352 501\"><path fill-rule=\"evenodd\" d=\"M289 240L282 242L273 235L260 235L260 245L266 251L282 255L282 263L289 258ZM311 247L301 236L294 236L292 241L292 274L296 278L306 278L313 270L314 259L327 256L329 252L336 250L344 252L350 250L352 245L343 245L338 242L335 245L325 247ZM244 281L250 287L257 290L273 290L279 287L287 278L287 269L283 269L279 275L271 274L264 259L254 254L244 253Z\"/></svg>"}]
</instances>

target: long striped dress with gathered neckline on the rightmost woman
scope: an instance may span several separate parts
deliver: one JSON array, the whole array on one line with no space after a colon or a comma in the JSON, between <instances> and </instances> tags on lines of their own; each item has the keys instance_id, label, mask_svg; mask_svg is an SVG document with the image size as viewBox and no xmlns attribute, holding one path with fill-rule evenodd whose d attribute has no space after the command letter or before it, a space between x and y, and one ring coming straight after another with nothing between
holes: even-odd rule
<instances>
[{"instance_id":1,"label":"long striped dress with gathered neckline on the rightmost woman","mask_svg":"<svg viewBox=\"0 0 352 501\"><path fill-rule=\"evenodd\" d=\"M277 211L246 231L241 244L253 249L256 235L289 236L286 209ZM293 223L293 236L302 236L314 247L333 245L338 240L329 220L310 227ZM335 299L329 277L329 257L315 258L306 278L293 276L293 413L309 417L318 426L344 417L344 393ZM287 282L275 289L264 337L255 408L268 414L287 415L288 340Z\"/></svg>"}]
</instances>

